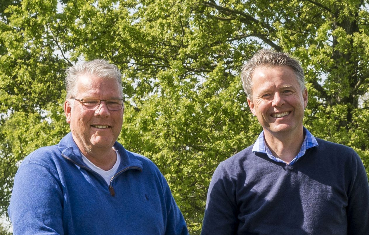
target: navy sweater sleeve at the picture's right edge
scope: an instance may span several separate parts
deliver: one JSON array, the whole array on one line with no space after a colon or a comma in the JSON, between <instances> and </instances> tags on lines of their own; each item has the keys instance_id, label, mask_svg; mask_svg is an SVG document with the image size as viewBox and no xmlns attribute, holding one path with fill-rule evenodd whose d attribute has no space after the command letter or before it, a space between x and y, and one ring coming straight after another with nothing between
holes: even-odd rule
<instances>
[{"instance_id":1,"label":"navy sweater sleeve at the picture's right edge","mask_svg":"<svg viewBox=\"0 0 369 235\"><path fill-rule=\"evenodd\" d=\"M352 181L346 207L348 234L369 234L368 176L358 154L352 156Z\"/></svg>"}]
</instances>

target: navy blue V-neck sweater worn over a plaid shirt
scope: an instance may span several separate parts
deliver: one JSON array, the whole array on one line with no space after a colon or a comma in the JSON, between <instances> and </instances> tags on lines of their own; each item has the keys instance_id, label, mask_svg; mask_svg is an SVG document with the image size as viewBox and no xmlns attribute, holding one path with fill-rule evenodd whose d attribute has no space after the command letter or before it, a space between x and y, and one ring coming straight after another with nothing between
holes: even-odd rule
<instances>
[{"instance_id":1,"label":"navy blue V-neck sweater worn over a plaid shirt","mask_svg":"<svg viewBox=\"0 0 369 235\"><path fill-rule=\"evenodd\" d=\"M293 166L252 146L221 162L201 234L369 234L361 159L349 147L317 141Z\"/></svg>"}]
</instances>

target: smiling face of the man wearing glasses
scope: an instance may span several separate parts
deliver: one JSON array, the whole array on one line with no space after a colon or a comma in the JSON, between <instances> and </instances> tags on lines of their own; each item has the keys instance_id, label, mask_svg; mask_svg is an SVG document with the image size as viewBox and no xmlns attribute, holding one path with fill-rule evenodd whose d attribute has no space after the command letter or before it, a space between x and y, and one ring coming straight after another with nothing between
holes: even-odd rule
<instances>
[{"instance_id":1,"label":"smiling face of the man wearing glasses","mask_svg":"<svg viewBox=\"0 0 369 235\"><path fill-rule=\"evenodd\" d=\"M77 99L121 99L121 91L115 79L94 75L79 76L76 82ZM85 110L82 103L67 99L64 103L66 120L70 124L73 140L83 154L93 156L96 151L111 150L123 124L123 111L110 111L101 102L96 110Z\"/></svg>"}]
</instances>

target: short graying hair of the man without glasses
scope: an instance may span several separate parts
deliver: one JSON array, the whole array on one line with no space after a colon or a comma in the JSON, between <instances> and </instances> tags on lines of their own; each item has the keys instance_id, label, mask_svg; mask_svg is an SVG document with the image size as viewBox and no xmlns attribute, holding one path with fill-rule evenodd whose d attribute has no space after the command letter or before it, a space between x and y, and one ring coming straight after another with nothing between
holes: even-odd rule
<instances>
[{"instance_id":1,"label":"short graying hair of the man without glasses","mask_svg":"<svg viewBox=\"0 0 369 235\"><path fill-rule=\"evenodd\" d=\"M241 81L244 86L247 98L252 101L252 75L256 68L259 67L275 67L288 66L294 72L297 82L299 82L301 91L304 91L305 78L304 70L300 62L290 57L289 54L270 50L259 50L256 54L246 62L241 70Z\"/></svg>"}]
</instances>

